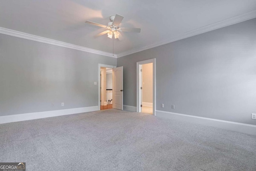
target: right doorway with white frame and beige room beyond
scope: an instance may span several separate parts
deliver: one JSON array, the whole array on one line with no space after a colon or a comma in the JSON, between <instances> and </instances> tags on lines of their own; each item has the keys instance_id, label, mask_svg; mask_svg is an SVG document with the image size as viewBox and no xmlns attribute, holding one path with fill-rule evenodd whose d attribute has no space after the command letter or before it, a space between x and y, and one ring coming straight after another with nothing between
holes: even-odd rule
<instances>
[{"instance_id":1,"label":"right doorway with white frame and beige room beyond","mask_svg":"<svg viewBox=\"0 0 256 171\"><path fill-rule=\"evenodd\" d=\"M137 62L137 112L155 115L155 61Z\"/></svg>"}]
</instances>

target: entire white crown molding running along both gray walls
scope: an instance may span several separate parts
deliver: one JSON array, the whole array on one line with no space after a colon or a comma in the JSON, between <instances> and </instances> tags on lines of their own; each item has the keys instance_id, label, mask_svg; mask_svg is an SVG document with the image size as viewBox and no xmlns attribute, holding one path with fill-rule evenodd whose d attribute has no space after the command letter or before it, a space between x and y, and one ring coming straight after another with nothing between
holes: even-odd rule
<instances>
[{"instance_id":1,"label":"entire white crown molding running along both gray walls","mask_svg":"<svg viewBox=\"0 0 256 171\"><path fill-rule=\"evenodd\" d=\"M48 39L48 38L44 38L44 37L40 37L40 36L36 36L36 35L32 35L32 34L27 34L27 33L24 33L24 32L18 32L16 30L10 30L8 28L0 27L0 34L6 34L6 35L9 35L9 36L15 36L15 37L18 37L18 38L24 38L24 39L28 39L28 40L34 40L34 41L37 41L37 42L52 44L52 45L61 46L61 47L65 47L65 48L81 50L81 51L84 51L84 52L99 54L99 55L102 55L102 56L120 58L120 57L123 57L123 56L134 54L136 52L140 52L140 51L143 51L143 50L147 50L147 49L150 49L150 48L154 48L154 47L157 47L157 46L161 46L161 45L168 44L168 43L171 43L171 42L175 42L175 41L178 41L178 40L182 40L182 39L185 39L185 38L196 36L198 34L209 32L209 31L212 31L212 30L216 30L218 28L223 28L223 27L226 27L226 26L230 26L232 24L236 24L236 23L239 23L239 22L243 22L243 21L246 21L246 20L253 19L253 18L256 18L256 10L245 13L245 14L242 14L242 15L239 15L239 16L235 16L235 17L232 17L232 18L229 18L229 19L226 19L226 20L222 20L222 21L216 22L214 24L209 24L207 26L203 26L203 27L197 28L195 30L191 30L189 32L180 34L176 37L173 37L173 38L161 41L161 42L157 42L157 43L154 43L154 44L151 44L151 45L148 45L148 46L143 46L143 47L135 48L135 49L132 49L132 50L128 50L128 51L122 52L120 54L114 54L114 57L113 57L113 54L108 53L108 52L103 52L103 51L100 51L100 50L85 48L83 46L78 46L78 45L74 45L74 44L60 42L58 40L52 40L52 39Z\"/></svg>"}]
</instances>

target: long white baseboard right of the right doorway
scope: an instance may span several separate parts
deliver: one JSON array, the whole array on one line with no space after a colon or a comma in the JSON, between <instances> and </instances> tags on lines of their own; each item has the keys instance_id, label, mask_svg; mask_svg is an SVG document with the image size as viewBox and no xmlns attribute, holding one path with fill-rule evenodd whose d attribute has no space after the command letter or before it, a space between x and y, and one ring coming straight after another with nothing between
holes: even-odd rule
<instances>
[{"instance_id":1,"label":"long white baseboard right of the right doorway","mask_svg":"<svg viewBox=\"0 0 256 171\"><path fill-rule=\"evenodd\" d=\"M256 135L256 125L156 110L156 116Z\"/></svg>"}]
</instances>

